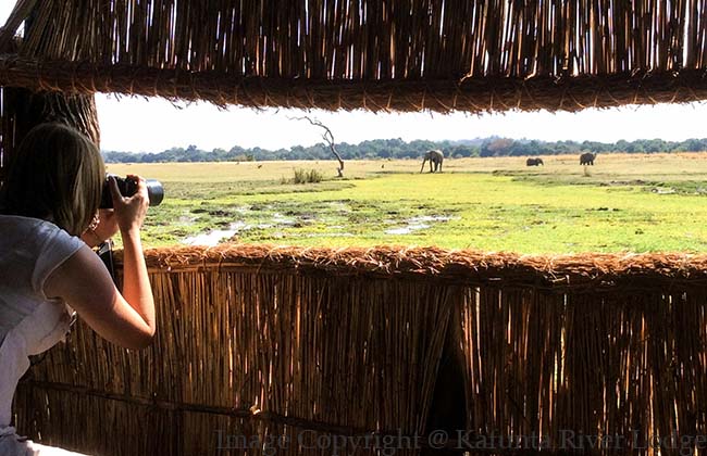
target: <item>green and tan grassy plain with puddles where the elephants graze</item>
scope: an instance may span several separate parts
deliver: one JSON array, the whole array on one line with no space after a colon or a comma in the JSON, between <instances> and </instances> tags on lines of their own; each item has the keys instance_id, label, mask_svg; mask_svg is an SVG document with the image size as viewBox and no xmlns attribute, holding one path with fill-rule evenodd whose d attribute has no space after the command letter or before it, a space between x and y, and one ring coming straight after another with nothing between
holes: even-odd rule
<instances>
[{"instance_id":1,"label":"green and tan grassy plain with puddles where the elephants graze","mask_svg":"<svg viewBox=\"0 0 707 456\"><path fill-rule=\"evenodd\" d=\"M419 161L110 164L164 183L147 246L185 242L438 245L520 253L707 251L707 153ZM294 185L295 169L325 180Z\"/></svg>"}]
</instances>

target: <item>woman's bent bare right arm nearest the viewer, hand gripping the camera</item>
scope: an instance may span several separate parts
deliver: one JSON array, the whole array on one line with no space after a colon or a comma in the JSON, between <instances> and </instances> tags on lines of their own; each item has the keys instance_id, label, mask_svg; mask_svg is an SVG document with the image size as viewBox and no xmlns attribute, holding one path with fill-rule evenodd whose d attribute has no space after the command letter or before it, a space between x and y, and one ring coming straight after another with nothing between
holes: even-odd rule
<instances>
[{"instance_id":1,"label":"woman's bent bare right arm nearest the viewer, hand gripping the camera","mask_svg":"<svg viewBox=\"0 0 707 456\"><path fill-rule=\"evenodd\" d=\"M154 301L140 242L149 205L145 179L131 198L111 178L114 217L123 239L123 294L88 246L79 249L46 280L45 294L65 300L96 332L127 349L142 349L154 335Z\"/></svg>"}]
</instances>

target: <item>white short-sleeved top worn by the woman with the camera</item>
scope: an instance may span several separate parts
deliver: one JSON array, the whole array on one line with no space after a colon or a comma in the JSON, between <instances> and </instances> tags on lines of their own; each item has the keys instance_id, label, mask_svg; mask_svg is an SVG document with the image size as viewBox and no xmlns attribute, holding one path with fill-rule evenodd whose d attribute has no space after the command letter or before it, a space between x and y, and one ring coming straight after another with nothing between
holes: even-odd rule
<instances>
[{"instance_id":1,"label":"white short-sleeved top worn by the woman with the camera","mask_svg":"<svg viewBox=\"0 0 707 456\"><path fill-rule=\"evenodd\" d=\"M28 356L63 341L74 313L47 299L45 280L84 245L49 221L0 215L0 440L15 432L12 398Z\"/></svg>"}]
</instances>

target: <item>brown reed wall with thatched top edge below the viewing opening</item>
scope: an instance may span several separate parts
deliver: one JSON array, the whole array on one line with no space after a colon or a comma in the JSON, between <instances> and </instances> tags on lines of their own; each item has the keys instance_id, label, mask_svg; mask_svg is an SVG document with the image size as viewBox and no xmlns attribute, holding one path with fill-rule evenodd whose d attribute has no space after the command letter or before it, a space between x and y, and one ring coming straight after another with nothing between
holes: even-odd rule
<instances>
[{"instance_id":1,"label":"brown reed wall with thatched top edge below the viewing opening","mask_svg":"<svg viewBox=\"0 0 707 456\"><path fill-rule=\"evenodd\" d=\"M493 435L521 454L576 454L568 445L586 435L625 441L579 453L653 455L647 439L707 435L704 256L147 256L154 344L125 351L79 324L22 382L22 432L101 455L331 455L332 442L437 454L438 430L449 447L484 449L471 454Z\"/></svg>"}]
</instances>

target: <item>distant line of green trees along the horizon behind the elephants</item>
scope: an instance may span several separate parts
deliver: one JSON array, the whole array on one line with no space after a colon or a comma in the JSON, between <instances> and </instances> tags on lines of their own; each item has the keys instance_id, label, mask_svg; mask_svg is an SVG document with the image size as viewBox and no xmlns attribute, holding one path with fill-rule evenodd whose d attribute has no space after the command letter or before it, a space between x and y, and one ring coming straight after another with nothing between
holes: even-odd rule
<instances>
[{"instance_id":1,"label":"distant line of green trees along the horizon behind the elephants","mask_svg":"<svg viewBox=\"0 0 707 456\"><path fill-rule=\"evenodd\" d=\"M476 138L461 141L406 142L402 139L374 139L358 144L337 143L336 149L343 160L371 159L420 159L431 149L439 149L447 157L469 156L538 156L566 153L656 153L656 152L698 152L707 150L707 138L685 141L665 141L662 139L620 140L612 143L597 141L539 141L509 138ZM172 148L157 153L132 153L103 151L107 163L164 163L164 162L247 162L269 160L331 160L328 144L310 147L294 145L289 149L266 150L244 149L238 145L206 151L189 145Z\"/></svg>"}]
</instances>

